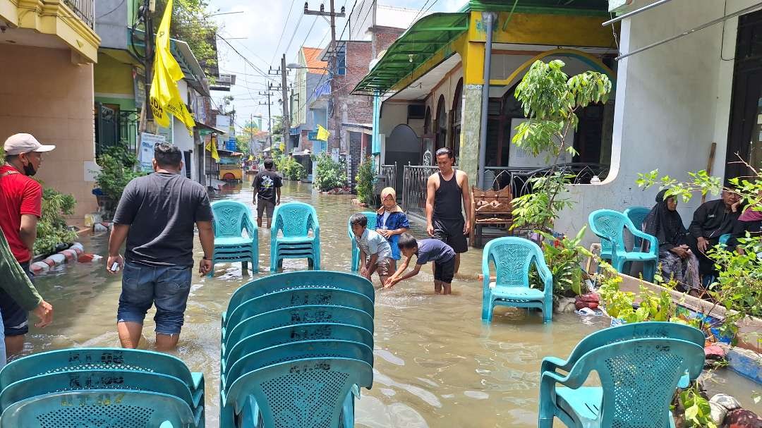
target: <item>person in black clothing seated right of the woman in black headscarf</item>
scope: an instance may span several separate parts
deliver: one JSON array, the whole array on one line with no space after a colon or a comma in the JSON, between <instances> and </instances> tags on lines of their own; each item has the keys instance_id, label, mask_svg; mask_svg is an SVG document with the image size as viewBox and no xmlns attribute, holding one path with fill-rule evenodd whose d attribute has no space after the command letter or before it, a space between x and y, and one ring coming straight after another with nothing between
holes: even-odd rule
<instances>
[{"instance_id":1,"label":"person in black clothing seated right of the woman in black headscarf","mask_svg":"<svg viewBox=\"0 0 762 428\"><path fill-rule=\"evenodd\" d=\"M719 237L733 232L738 221L738 193L722 190L722 199L701 204L693 213L693 222L688 227L688 245L699 258L699 272L703 276L716 276L714 261L706 257L709 248L719 243Z\"/></svg>"}]
</instances>

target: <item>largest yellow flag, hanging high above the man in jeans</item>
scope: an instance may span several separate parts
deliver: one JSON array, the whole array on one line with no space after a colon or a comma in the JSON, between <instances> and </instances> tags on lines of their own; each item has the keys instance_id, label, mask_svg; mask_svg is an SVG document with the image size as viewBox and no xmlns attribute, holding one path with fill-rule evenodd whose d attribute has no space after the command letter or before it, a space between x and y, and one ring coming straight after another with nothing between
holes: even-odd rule
<instances>
[{"instance_id":1,"label":"largest yellow flag, hanging high above the man in jeans","mask_svg":"<svg viewBox=\"0 0 762 428\"><path fill-rule=\"evenodd\" d=\"M177 81L184 78L178 61L169 50L169 22L172 18L172 0L168 0L162 24L156 33L156 50L151 82L151 110L158 125L169 127L169 113L177 117L193 136L194 117L185 107Z\"/></svg>"}]
</instances>

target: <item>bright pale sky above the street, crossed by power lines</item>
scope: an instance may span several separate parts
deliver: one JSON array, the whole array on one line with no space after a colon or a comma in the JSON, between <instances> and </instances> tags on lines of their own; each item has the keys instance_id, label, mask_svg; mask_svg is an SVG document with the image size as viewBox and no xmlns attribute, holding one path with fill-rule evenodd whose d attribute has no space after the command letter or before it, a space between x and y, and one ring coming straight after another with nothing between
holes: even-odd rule
<instances>
[{"instance_id":1,"label":"bright pale sky above the street, crossed by power lines","mask_svg":"<svg viewBox=\"0 0 762 428\"><path fill-rule=\"evenodd\" d=\"M308 0L309 8L317 10L321 2L328 10L329 0ZM268 82L262 72L266 74L271 67L280 67L283 53L286 53L288 64L296 62L301 46L328 45L330 25L324 18L305 16L304 3L305 0L210 0L210 13L218 14L214 19L220 26L219 36L232 45L231 48L225 40L217 40L219 72L237 76L231 91L213 91L212 98L219 106L223 97L232 95L236 128L240 129L251 115L261 115L263 123L267 122L267 105L259 104L267 103L267 97L259 94ZM335 8L340 10L344 6L347 16L354 4L355 0L335 0ZM379 0L379 5L419 10L424 5L426 8L433 5L430 13L457 11L464 4L466 0ZM242 13L226 14L228 12ZM345 24L345 18L337 18L337 38L340 38ZM273 79L273 85L280 85L280 75L269 77ZM290 80L293 81L293 77ZM274 92L271 96L273 116L281 113L279 100L280 92Z\"/></svg>"}]
</instances>

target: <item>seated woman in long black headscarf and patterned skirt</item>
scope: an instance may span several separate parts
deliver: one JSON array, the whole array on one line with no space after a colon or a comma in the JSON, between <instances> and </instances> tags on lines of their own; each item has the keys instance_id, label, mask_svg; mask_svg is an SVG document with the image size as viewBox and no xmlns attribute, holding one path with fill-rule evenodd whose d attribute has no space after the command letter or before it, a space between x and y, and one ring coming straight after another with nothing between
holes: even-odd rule
<instances>
[{"instance_id":1,"label":"seated woman in long black headscarf and patterned skirt","mask_svg":"<svg viewBox=\"0 0 762 428\"><path fill-rule=\"evenodd\" d=\"M690 295L700 295L703 290L699 277L699 260L688 248L687 229L677 212L674 196L664 199L667 190L656 195L656 205L643 221L643 232L653 235L659 242L659 264L664 279L674 279Z\"/></svg>"}]
</instances>

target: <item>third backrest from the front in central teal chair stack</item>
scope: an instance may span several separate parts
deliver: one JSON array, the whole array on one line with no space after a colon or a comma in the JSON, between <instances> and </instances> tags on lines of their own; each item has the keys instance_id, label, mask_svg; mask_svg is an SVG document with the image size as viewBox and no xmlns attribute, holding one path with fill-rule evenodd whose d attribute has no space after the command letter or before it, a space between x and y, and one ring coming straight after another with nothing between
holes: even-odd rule
<instances>
[{"instance_id":1,"label":"third backrest from the front in central teal chair stack","mask_svg":"<svg viewBox=\"0 0 762 428\"><path fill-rule=\"evenodd\" d=\"M373 348L373 333L348 324L296 324L245 337L223 356L223 372L247 353L299 340L351 340Z\"/></svg>"}]
</instances>

